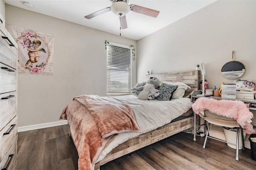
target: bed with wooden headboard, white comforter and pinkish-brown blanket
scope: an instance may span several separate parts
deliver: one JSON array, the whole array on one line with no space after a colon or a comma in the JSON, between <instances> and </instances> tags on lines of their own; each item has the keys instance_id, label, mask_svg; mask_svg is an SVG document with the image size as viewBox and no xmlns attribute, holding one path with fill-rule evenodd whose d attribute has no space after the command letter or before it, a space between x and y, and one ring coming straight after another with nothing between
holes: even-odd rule
<instances>
[{"instance_id":1,"label":"bed with wooden headboard, white comforter and pinkish-brown blanket","mask_svg":"<svg viewBox=\"0 0 256 170\"><path fill-rule=\"evenodd\" d=\"M165 83L180 82L190 87L183 93L184 97L171 101L144 101L133 95L115 97L81 95L74 97L74 100L64 108L60 119L68 120L70 134L78 150L79 169L98 170L101 165L111 160L194 127L192 103L186 97L193 90L200 89L200 75L199 70L146 75L146 79L154 76ZM94 107L94 104L92 105L90 102L94 102L96 106ZM124 115L113 118L108 117L109 114L104 114L109 111L116 112L113 107L109 111L103 108L102 113L95 111L95 108L103 105L115 105L123 112L118 115ZM91 114L86 116L82 114L85 110ZM129 112L130 110L131 112ZM104 122L104 119L109 119L110 122L119 121L125 125L118 129L116 127L112 129L112 125L110 128L109 123ZM90 120L96 121L92 123ZM91 127L84 127L84 121L87 121L86 124L95 124L90 126L97 127L98 131L94 133L94 131L90 131ZM90 138L86 138L87 136ZM98 143L95 144L95 141ZM94 146L97 147L93 149ZM90 164L88 165L86 162L90 162Z\"/></svg>"}]
</instances>

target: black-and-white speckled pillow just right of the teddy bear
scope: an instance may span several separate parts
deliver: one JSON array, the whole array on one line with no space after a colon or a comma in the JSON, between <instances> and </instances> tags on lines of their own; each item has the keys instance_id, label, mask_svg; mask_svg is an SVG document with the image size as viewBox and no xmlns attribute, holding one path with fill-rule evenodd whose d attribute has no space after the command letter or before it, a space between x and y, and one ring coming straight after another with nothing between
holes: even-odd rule
<instances>
[{"instance_id":1,"label":"black-and-white speckled pillow just right of the teddy bear","mask_svg":"<svg viewBox=\"0 0 256 170\"><path fill-rule=\"evenodd\" d=\"M163 83L159 88L160 94L155 99L160 101L169 101L172 99L173 92L178 88L178 85L168 85Z\"/></svg>"}]
</instances>

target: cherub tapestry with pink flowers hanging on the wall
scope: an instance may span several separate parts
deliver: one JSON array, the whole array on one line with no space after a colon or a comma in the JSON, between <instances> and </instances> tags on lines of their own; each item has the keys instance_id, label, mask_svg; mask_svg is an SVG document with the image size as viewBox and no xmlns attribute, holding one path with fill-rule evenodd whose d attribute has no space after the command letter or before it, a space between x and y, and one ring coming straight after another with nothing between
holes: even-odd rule
<instances>
[{"instance_id":1,"label":"cherub tapestry with pink flowers hanging on the wall","mask_svg":"<svg viewBox=\"0 0 256 170\"><path fill-rule=\"evenodd\" d=\"M54 35L13 25L8 29L18 43L17 73L53 75Z\"/></svg>"}]
</instances>

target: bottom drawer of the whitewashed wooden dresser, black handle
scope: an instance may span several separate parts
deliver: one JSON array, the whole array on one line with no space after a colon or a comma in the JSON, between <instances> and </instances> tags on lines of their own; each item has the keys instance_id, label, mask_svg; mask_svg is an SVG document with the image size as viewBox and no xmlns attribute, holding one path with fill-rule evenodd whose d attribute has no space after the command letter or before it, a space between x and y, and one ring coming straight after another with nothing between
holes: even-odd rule
<instances>
[{"instance_id":1,"label":"bottom drawer of the whitewashed wooden dresser, black handle","mask_svg":"<svg viewBox=\"0 0 256 170\"><path fill-rule=\"evenodd\" d=\"M3 156L0 169L6 168L7 170L14 170L17 163L17 142L13 143L12 147L9 148L6 155Z\"/></svg>"}]
</instances>

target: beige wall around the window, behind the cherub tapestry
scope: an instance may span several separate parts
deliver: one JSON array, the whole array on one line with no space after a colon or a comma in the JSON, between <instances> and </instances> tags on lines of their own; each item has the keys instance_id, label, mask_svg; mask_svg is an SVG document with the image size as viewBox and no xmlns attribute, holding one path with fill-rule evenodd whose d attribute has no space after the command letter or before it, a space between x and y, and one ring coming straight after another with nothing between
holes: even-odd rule
<instances>
[{"instance_id":1,"label":"beige wall around the window, behind the cherub tapestry","mask_svg":"<svg viewBox=\"0 0 256 170\"><path fill-rule=\"evenodd\" d=\"M75 96L106 96L105 40L137 50L134 40L7 4L5 11L6 28L12 24L54 34L54 75L18 74L18 127L58 121ZM132 64L136 83L136 60Z\"/></svg>"}]
</instances>

